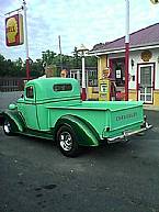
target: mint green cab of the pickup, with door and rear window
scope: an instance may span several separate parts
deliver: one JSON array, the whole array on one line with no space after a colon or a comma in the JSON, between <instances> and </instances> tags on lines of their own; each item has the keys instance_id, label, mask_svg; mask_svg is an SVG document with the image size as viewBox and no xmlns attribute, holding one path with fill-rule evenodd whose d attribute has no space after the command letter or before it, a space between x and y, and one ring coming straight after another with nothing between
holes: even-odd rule
<instances>
[{"instance_id":1,"label":"mint green cab of the pickup, with door and rear window","mask_svg":"<svg viewBox=\"0 0 159 212\"><path fill-rule=\"evenodd\" d=\"M35 79L26 83L24 97L18 100L18 110L22 113L29 129L48 131L47 107L76 105L80 102L80 88L77 80Z\"/></svg>"}]
</instances>

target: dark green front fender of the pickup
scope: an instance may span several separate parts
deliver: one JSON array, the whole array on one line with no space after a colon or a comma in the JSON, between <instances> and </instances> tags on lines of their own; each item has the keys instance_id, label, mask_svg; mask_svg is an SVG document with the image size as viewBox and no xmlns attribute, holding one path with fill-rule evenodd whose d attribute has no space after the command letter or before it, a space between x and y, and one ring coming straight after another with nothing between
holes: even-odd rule
<instances>
[{"instance_id":1,"label":"dark green front fender of the pickup","mask_svg":"<svg viewBox=\"0 0 159 212\"><path fill-rule=\"evenodd\" d=\"M25 123L21 116L21 114L19 113L19 111L15 109L15 110L5 110L2 112L2 115L3 115L3 119L10 119L16 127L15 131L18 132L23 132L24 129L25 129Z\"/></svg>"}]
</instances>

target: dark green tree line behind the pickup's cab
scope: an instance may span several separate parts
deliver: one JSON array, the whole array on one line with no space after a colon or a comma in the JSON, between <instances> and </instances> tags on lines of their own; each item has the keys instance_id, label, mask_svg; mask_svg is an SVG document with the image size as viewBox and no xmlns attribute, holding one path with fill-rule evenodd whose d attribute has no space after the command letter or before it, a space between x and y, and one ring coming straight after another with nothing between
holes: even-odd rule
<instances>
[{"instance_id":1,"label":"dark green tree line behind the pickup's cab","mask_svg":"<svg viewBox=\"0 0 159 212\"><path fill-rule=\"evenodd\" d=\"M73 49L73 55L61 55L63 57L63 68L66 69L73 69L79 68L81 69L81 57L78 55L77 47ZM61 71L61 60L60 54L56 54L53 51L45 51L42 52L42 58L36 59L33 62L30 58L30 76L32 78L36 78L38 76L44 75L44 65L56 66L58 76ZM94 56L87 56L86 57L86 67L96 67L96 57ZM5 59L2 55L0 55L0 77L26 77L26 63L19 57L15 62L11 59Z\"/></svg>"}]
</instances>

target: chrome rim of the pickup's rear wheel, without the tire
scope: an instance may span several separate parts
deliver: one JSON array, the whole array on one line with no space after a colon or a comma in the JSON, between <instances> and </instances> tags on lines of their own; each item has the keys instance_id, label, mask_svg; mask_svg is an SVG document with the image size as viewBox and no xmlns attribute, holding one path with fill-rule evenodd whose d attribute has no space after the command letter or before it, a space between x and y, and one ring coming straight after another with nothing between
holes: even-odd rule
<instances>
[{"instance_id":1,"label":"chrome rim of the pickup's rear wheel, without the tire","mask_svg":"<svg viewBox=\"0 0 159 212\"><path fill-rule=\"evenodd\" d=\"M59 143L64 150L70 150L72 148L72 137L68 132L63 132L59 136Z\"/></svg>"}]
</instances>

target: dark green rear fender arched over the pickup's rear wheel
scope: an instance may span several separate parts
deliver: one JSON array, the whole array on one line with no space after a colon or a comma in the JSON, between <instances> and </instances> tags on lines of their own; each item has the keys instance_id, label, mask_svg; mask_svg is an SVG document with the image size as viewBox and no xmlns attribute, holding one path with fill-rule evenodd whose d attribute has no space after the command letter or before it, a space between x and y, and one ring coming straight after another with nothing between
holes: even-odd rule
<instances>
[{"instance_id":1,"label":"dark green rear fender arched over the pickup's rear wheel","mask_svg":"<svg viewBox=\"0 0 159 212\"><path fill-rule=\"evenodd\" d=\"M79 145L99 146L100 136L93 126L87 121L75 115L64 115L57 121L55 125L55 135L61 125L69 125L72 127Z\"/></svg>"}]
</instances>

